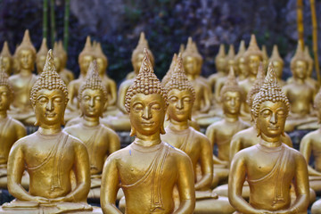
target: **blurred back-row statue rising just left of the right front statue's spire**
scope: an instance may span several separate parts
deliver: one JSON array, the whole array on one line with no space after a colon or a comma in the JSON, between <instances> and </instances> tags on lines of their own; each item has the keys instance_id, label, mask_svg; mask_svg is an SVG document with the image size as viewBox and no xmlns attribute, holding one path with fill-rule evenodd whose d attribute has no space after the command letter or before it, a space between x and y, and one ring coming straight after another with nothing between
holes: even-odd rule
<instances>
[{"instance_id":1,"label":"blurred back-row statue rising just left of the right front statue's spire","mask_svg":"<svg viewBox=\"0 0 321 214\"><path fill-rule=\"evenodd\" d=\"M244 97L246 97L249 91L251 90L251 86L253 86L256 76L258 74L259 62L263 61L263 55L262 52L259 50L259 46L257 44L254 34L251 35L250 45L244 53L244 57L248 64L249 75L247 78L240 81L239 85L243 88ZM245 116L245 118L250 118L250 110L250 106L248 106L247 103L243 103L241 112Z\"/></svg>"}]
</instances>

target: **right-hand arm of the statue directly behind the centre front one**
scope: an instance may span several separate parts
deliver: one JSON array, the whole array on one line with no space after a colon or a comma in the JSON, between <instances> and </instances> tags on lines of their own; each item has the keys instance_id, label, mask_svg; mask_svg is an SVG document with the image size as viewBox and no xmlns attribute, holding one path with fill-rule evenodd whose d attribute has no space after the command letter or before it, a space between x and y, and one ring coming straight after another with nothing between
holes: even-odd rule
<instances>
[{"instance_id":1,"label":"right-hand arm of the statue directly behind the centre front one","mask_svg":"<svg viewBox=\"0 0 321 214\"><path fill-rule=\"evenodd\" d=\"M208 190L210 189L210 185L213 179L212 149L210 147L210 141L208 139L204 139L201 143L202 178L196 182L195 190Z\"/></svg>"}]
</instances>

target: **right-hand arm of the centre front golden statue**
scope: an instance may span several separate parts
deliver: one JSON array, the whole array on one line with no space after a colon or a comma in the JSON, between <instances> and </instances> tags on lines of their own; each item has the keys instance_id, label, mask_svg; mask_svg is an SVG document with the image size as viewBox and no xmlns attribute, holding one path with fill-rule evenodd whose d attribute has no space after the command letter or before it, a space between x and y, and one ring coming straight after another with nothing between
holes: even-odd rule
<instances>
[{"instance_id":1,"label":"right-hand arm of the centre front golden statue","mask_svg":"<svg viewBox=\"0 0 321 214\"><path fill-rule=\"evenodd\" d=\"M192 214L195 208L193 166L192 161L186 154L177 160L177 169L180 204L174 214Z\"/></svg>"}]
</instances>

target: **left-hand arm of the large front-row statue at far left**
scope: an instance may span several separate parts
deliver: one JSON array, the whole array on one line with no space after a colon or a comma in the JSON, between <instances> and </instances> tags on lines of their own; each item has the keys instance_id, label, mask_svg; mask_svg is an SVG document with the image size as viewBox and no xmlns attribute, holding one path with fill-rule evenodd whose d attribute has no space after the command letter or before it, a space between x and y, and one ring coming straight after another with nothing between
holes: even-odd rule
<instances>
[{"instance_id":1,"label":"left-hand arm of the large front-row statue at far left","mask_svg":"<svg viewBox=\"0 0 321 214\"><path fill-rule=\"evenodd\" d=\"M25 162L23 157L23 148L19 142L13 144L9 154L7 165L8 170L8 190L13 197L20 201L26 202L49 202L43 197L32 196L21 185L21 177L25 170Z\"/></svg>"}]
</instances>

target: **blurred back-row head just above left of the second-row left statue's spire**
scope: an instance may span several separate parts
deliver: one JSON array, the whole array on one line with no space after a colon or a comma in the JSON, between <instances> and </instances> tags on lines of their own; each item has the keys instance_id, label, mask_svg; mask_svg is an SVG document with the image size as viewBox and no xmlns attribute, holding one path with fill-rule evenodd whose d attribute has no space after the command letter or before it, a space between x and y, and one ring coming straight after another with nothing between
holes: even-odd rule
<instances>
[{"instance_id":1,"label":"blurred back-row head just above left of the second-row left statue's spire","mask_svg":"<svg viewBox=\"0 0 321 214\"><path fill-rule=\"evenodd\" d=\"M80 67L80 73L86 76L90 62L95 59L93 47L91 45L90 37L86 37L86 44L84 49L79 53L78 63Z\"/></svg>"}]
</instances>

